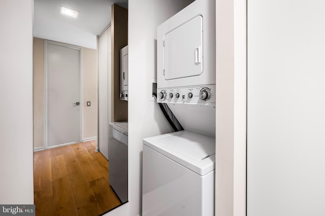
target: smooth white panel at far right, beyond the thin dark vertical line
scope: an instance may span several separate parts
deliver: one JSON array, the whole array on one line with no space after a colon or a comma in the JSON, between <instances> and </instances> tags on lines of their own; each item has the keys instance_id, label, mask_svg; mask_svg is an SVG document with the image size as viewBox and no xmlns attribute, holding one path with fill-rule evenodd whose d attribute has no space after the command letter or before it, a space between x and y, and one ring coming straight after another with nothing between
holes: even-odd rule
<instances>
[{"instance_id":1,"label":"smooth white panel at far right, beyond the thin dark vertical line","mask_svg":"<svg viewBox=\"0 0 325 216\"><path fill-rule=\"evenodd\" d=\"M248 214L325 215L325 2L248 0Z\"/></svg>"}]
</instances>

